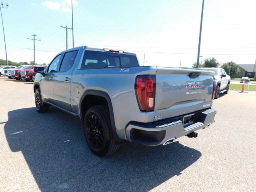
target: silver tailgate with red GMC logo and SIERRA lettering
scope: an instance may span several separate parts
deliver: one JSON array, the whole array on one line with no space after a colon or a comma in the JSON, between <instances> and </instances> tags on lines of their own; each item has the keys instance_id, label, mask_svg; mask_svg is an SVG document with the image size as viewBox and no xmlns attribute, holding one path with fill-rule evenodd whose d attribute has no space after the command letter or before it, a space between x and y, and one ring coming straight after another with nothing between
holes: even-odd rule
<instances>
[{"instance_id":1,"label":"silver tailgate with red GMC logo and SIERRA lettering","mask_svg":"<svg viewBox=\"0 0 256 192\"><path fill-rule=\"evenodd\" d=\"M213 87L214 72L157 67L154 120L210 108Z\"/></svg>"}]
</instances>

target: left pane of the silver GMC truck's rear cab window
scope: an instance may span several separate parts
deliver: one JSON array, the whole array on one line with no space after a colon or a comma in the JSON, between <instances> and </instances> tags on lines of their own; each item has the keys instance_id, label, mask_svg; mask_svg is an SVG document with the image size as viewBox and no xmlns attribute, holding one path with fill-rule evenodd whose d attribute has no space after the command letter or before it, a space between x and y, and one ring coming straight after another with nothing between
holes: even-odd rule
<instances>
[{"instance_id":1,"label":"left pane of the silver GMC truck's rear cab window","mask_svg":"<svg viewBox=\"0 0 256 192\"><path fill-rule=\"evenodd\" d=\"M107 66L107 54L99 51L86 51L81 69L102 69Z\"/></svg>"}]
</instances>

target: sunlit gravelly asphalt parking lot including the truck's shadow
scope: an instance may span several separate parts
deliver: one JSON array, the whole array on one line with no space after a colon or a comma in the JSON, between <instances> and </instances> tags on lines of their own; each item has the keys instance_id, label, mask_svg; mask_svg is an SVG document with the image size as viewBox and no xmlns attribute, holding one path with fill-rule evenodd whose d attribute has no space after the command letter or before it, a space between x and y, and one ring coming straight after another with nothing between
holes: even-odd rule
<instances>
[{"instance_id":1,"label":"sunlit gravelly asphalt parking lot including the truck's shadow","mask_svg":"<svg viewBox=\"0 0 256 192\"><path fill-rule=\"evenodd\" d=\"M221 94L216 122L198 138L126 142L99 158L76 117L36 112L32 87L0 78L0 192L256 191L256 92Z\"/></svg>"}]
</instances>

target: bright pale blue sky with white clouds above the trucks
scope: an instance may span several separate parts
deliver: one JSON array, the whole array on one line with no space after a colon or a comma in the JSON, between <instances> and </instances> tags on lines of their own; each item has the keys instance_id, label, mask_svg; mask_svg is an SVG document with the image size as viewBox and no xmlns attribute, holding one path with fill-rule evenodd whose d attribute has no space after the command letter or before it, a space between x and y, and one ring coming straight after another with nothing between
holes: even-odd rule
<instances>
[{"instance_id":1,"label":"bright pale blue sky with white clouds above the trucks","mask_svg":"<svg viewBox=\"0 0 256 192\"><path fill-rule=\"evenodd\" d=\"M2 9L8 60L49 63L66 49L71 0L8 0ZM140 64L189 67L196 61L202 0L73 0L74 45L135 52ZM205 0L201 55L220 63L254 64L255 0ZM0 27L0 58L5 59ZM72 47L72 31L68 30Z\"/></svg>"}]
</instances>

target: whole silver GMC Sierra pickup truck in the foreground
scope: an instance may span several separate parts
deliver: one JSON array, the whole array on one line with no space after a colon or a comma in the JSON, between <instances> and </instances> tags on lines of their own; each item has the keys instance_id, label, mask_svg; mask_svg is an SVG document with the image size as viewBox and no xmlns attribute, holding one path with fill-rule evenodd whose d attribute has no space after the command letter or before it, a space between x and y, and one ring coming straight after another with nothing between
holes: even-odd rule
<instances>
[{"instance_id":1,"label":"whole silver GMC Sierra pickup truck in the foreground","mask_svg":"<svg viewBox=\"0 0 256 192\"><path fill-rule=\"evenodd\" d=\"M214 72L140 67L136 54L80 46L35 67L36 110L54 106L83 120L90 150L113 154L124 141L166 145L214 122Z\"/></svg>"}]
</instances>

